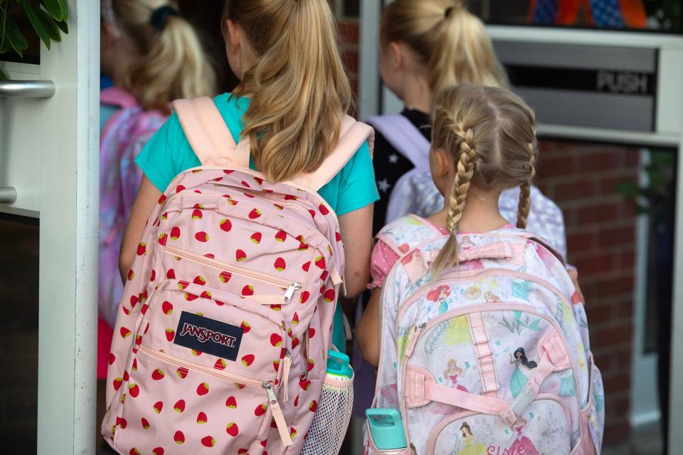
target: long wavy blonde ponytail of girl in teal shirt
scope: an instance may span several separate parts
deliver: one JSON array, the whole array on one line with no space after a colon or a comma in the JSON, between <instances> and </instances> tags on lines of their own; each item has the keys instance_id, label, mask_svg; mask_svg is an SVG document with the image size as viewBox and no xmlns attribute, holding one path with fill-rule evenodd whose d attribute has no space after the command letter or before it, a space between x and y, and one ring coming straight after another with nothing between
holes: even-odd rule
<instances>
[{"instance_id":1,"label":"long wavy blonde ponytail of girl in teal shirt","mask_svg":"<svg viewBox=\"0 0 683 455\"><path fill-rule=\"evenodd\" d=\"M233 96L250 96L243 137L256 167L281 182L312 172L339 139L351 107L337 22L327 0L228 0L226 21L238 23L258 56Z\"/></svg>"}]
</instances>

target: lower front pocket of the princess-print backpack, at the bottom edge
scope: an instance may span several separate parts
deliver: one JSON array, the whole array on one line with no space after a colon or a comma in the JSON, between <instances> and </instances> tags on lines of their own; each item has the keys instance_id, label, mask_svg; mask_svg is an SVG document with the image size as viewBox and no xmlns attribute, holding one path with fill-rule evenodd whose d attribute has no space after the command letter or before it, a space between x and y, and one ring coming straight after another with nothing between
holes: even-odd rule
<instances>
[{"instance_id":1,"label":"lower front pocket of the princess-print backpack, at the bottom edge","mask_svg":"<svg viewBox=\"0 0 683 455\"><path fill-rule=\"evenodd\" d=\"M540 394L517 424L497 415L462 412L430 433L427 455L569 454L569 410L561 399Z\"/></svg>"}]
</instances>

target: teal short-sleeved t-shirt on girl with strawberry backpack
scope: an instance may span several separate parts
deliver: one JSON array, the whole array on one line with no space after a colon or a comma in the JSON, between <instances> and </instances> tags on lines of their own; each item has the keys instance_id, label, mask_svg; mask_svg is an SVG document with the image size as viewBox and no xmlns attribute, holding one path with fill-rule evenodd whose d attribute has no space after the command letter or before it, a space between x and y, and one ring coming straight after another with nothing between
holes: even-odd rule
<instances>
[{"instance_id":1,"label":"teal short-sleeved t-shirt on girl with strawberry backpack","mask_svg":"<svg viewBox=\"0 0 683 455\"><path fill-rule=\"evenodd\" d=\"M223 93L213 98L213 101L228 125L235 143L239 142L240 132L243 129L242 117L249 107L250 99L231 98L229 93ZM147 142L135 162L147 179L161 192L166 190L176 175L201 165L175 113ZM250 160L249 167L258 170L254 166L253 159ZM334 209L337 216L361 209L379 199L370 148L367 143L359 148L328 184L319 189L318 194ZM346 347L343 328L342 308L339 305L334 315L332 342L342 352Z\"/></svg>"}]
</instances>

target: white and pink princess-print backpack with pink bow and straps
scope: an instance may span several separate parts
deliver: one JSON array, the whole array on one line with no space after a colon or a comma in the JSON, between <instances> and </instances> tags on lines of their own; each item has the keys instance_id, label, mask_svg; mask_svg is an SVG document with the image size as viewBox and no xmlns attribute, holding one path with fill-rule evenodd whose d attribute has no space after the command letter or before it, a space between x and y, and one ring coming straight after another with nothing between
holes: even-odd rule
<instances>
[{"instance_id":1,"label":"white and pink princess-print backpack with pink bow and straps","mask_svg":"<svg viewBox=\"0 0 683 455\"><path fill-rule=\"evenodd\" d=\"M398 409L408 448L378 450L368 434L367 453L600 453L603 385L583 303L530 235L458 234L460 263L435 280L447 236L413 216L378 235L401 261L381 297L373 407Z\"/></svg>"}]
</instances>

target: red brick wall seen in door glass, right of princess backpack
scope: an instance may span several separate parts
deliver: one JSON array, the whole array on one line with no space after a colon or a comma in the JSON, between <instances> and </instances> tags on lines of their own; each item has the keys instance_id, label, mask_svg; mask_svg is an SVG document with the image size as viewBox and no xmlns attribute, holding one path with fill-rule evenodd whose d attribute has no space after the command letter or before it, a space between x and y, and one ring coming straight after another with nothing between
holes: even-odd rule
<instances>
[{"instance_id":1,"label":"red brick wall seen in door glass, right of princess backpack","mask_svg":"<svg viewBox=\"0 0 683 455\"><path fill-rule=\"evenodd\" d=\"M605 382L605 442L628 436L635 211L616 188L636 182L638 151L615 145L542 141L539 187L561 207L568 260L586 298L595 362Z\"/></svg>"}]
</instances>

